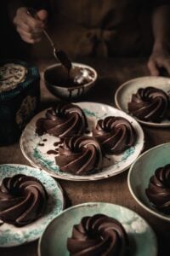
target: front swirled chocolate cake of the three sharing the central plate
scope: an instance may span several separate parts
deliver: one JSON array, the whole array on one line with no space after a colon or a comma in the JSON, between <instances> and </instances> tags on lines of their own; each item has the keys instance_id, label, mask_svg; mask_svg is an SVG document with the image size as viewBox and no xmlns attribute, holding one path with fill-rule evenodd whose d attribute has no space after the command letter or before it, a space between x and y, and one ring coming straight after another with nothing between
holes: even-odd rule
<instances>
[{"instance_id":1,"label":"front swirled chocolate cake of the three sharing the central plate","mask_svg":"<svg viewBox=\"0 0 170 256\"><path fill-rule=\"evenodd\" d=\"M99 143L93 137L66 138L59 147L56 164L62 172L74 175L86 175L98 171L102 166L102 152Z\"/></svg>"}]
</instances>

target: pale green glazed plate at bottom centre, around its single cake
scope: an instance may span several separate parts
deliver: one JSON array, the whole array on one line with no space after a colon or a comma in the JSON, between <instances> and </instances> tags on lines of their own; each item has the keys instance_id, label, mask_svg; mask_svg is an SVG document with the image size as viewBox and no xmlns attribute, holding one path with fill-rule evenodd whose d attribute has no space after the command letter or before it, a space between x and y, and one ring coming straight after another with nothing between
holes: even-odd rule
<instances>
[{"instance_id":1,"label":"pale green glazed plate at bottom centre, around its single cake","mask_svg":"<svg viewBox=\"0 0 170 256\"><path fill-rule=\"evenodd\" d=\"M110 203L85 203L71 207L48 224L42 234L39 245L39 256L67 256L67 238L71 237L74 224L85 216L101 213L116 218L127 231L131 256L156 256L156 236L150 226L136 212Z\"/></svg>"}]
</instances>

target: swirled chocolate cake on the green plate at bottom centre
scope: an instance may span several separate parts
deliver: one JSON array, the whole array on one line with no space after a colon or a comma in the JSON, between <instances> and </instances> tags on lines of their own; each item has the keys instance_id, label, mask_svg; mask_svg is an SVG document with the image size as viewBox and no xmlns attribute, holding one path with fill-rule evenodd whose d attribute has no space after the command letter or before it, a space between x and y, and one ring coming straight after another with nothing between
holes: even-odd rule
<instances>
[{"instance_id":1,"label":"swirled chocolate cake on the green plate at bottom centre","mask_svg":"<svg viewBox=\"0 0 170 256\"><path fill-rule=\"evenodd\" d=\"M115 218L96 214L74 225L67 248L71 256L127 256L128 237Z\"/></svg>"}]
</instances>

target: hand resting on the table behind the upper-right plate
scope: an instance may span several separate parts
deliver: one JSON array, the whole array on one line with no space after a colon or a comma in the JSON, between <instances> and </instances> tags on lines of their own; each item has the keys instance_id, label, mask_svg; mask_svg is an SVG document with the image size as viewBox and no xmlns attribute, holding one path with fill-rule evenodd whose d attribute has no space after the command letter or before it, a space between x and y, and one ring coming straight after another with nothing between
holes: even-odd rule
<instances>
[{"instance_id":1,"label":"hand resting on the table behind the upper-right plate","mask_svg":"<svg viewBox=\"0 0 170 256\"><path fill-rule=\"evenodd\" d=\"M162 68L170 75L170 52L167 49L153 50L148 61L148 68L152 76L159 76Z\"/></svg>"}]
</instances>

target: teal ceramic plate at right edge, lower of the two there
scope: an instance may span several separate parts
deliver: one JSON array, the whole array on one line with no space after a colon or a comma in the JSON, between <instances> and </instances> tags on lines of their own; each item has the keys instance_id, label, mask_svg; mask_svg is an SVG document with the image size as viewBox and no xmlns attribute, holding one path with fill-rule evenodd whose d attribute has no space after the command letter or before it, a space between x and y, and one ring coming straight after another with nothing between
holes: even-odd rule
<instances>
[{"instance_id":1,"label":"teal ceramic plate at right edge, lower of the two there","mask_svg":"<svg viewBox=\"0 0 170 256\"><path fill-rule=\"evenodd\" d=\"M161 144L149 149L139 156L139 159L133 163L128 172L128 188L133 198L141 207L158 218L170 221L170 215L158 212L145 195L145 189L148 187L150 177L156 169L170 164L170 143Z\"/></svg>"}]
</instances>

